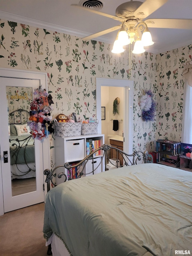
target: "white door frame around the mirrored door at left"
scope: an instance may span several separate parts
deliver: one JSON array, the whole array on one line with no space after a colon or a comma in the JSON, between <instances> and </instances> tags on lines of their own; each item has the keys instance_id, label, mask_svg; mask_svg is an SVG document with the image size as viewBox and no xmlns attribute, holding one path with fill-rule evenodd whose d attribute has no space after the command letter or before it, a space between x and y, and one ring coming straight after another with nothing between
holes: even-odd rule
<instances>
[{"instance_id":1,"label":"white door frame around the mirrored door at left","mask_svg":"<svg viewBox=\"0 0 192 256\"><path fill-rule=\"evenodd\" d=\"M0 76L1 77L12 77L12 78L38 79L38 80L41 80L41 84L42 84L43 88L46 88L46 90L48 90L47 73L35 72L35 71L26 71L26 70L17 70L17 69L13 70L13 69L10 69L10 68L0 68ZM43 143L42 143L42 152L43 152L42 175L43 175L44 184L46 184L45 183L46 176L44 175L43 171L47 168L50 169L50 142L49 142L49 137L45 138ZM1 161L3 161L3 155L2 154L1 154ZM44 201L45 201L46 193L47 193L47 186L44 185ZM3 214L4 214L3 181L2 181L2 168L1 168L1 165L0 165L0 215L3 215Z\"/></svg>"}]
</instances>

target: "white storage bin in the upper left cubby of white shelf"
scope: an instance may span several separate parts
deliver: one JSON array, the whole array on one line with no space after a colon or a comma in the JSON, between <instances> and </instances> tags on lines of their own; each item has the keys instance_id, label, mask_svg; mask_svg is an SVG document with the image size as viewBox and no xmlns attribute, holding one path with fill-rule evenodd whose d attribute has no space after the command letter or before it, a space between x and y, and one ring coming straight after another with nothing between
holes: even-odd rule
<instances>
[{"instance_id":1,"label":"white storage bin in the upper left cubby of white shelf","mask_svg":"<svg viewBox=\"0 0 192 256\"><path fill-rule=\"evenodd\" d=\"M84 139L66 140L66 162L80 161L84 157Z\"/></svg>"}]
</instances>

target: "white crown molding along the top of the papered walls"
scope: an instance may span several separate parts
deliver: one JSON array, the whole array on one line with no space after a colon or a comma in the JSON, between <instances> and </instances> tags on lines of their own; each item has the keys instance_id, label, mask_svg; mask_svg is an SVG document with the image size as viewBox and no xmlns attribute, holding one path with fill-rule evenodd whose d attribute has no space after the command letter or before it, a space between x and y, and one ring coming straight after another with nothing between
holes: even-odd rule
<instances>
[{"instance_id":1,"label":"white crown molding along the top of the papered walls","mask_svg":"<svg viewBox=\"0 0 192 256\"><path fill-rule=\"evenodd\" d=\"M34 27L37 27L37 28L49 29L49 30L57 31L57 32L64 33L64 34L73 35L73 36L76 36L78 38L84 38L84 37L90 35L90 34L88 34L87 32L84 32L84 31L79 31L79 30L76 30L76 29L67 28L67 27L64 27L64 26L61 26L61 25L56 25L56 24L49 23L49 22L44 22L44 21L41 21L41 20L35 20L35 19L32 19L32 18L24 17L24 16L17 15L17 14L12 14L12 13L5 12L5 11L0 11L0 17L1 17L1 19L4 19L4 20L11 20L11 21L14 21L14 22L27 24L27 25L34 26ZM107 44L113 44L114 43L114 41L112 41L112 39L107 38L105 36L100 36L98 38L93 38L93 39L96 40L96 41L101 41L101 42L107 43ZM173 49L183 47L183 46L189 45L189 44L191 44L190 40L189 41L183 41L182 44L171 45L170 47L163 47L163 48L160 48L160 49L156 49L156 48L153 48L153 47L147 47L145 49L149 53L159 54L159 53L164 53L164 52L167 52L167 51L171 51Z\"/></svg>"}]
</instances>

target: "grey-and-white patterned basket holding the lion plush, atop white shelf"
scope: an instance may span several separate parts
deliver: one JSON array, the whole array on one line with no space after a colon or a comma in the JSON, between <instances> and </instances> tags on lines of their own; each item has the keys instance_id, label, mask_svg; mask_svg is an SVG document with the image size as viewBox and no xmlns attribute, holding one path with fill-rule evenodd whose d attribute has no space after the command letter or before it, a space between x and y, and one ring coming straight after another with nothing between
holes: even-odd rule
<instances>
[{"instance_id":1,"label":"grey-and-white patterned basket holding the lion plush, atop white shelf","mask_svg":"<svg viewBox=\"0 0 192 256\"><path fill-rule=\"evenodd\" d=\"M55 133L58 137L71 137L81 135L82 123L55 122Z\"/></svg>"}]
</instances>

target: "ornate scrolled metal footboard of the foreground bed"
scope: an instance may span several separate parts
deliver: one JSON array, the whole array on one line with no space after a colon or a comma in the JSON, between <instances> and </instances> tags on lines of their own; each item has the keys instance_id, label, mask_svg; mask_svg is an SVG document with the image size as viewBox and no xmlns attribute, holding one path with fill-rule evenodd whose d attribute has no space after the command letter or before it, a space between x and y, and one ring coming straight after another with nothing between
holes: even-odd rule
<instances>
[{"instance_id":1,"label":"ornate scrolled metal footboard of the foreground bed","mask_svg":"<svg viewBox=\"0 0 192 256\"><path fill-rule=\"evenodd\" d=\"M110 161L111 159L109 159L109 157L107 155L107 150L109 150L109 149L115 149L116 150L116 153L117 153L117 158L116 159L118 159L118 154L120 154L122 156L122 158L124 160L124 164L122 166L129 166L129 165L135 165L135 164L139 164L139 163L146 163L148 155L149 155L148 151L141 152L141 151L136 151L136 150L134 150L133 154L127 154L127 153L125 153L124 151L122 151L118 148L115 148L113 146L109 146L107 144L104 144L103 146L100 146L98 149L94 150L91 154L86 156L83 160L79 161L75 165L70 165L69 163L65 163L64 165L59 165L59 166L55 167L52 171L49 170L49 169L44 170L44 175L46 175L45 182L47 182L47 191L50 190L50 188L49 188L50 181L51 181L51 183L53 184L54 187L57 186L57 184L52 181L52 179L56 176L55 175L55 170L57 168L63 167L63 168L66 168L66 169L70 170L71 167L73 167L73 168L77 167L77 169L76 169L77 171L76 171L74 176L70 172L68 172L68 180L78 179L78 178L81 178L83 175L85 175L85 173L83 173L85 165L87 164L88 160L92 159L92 168L90 168L90 172L87 173L87 174L94 174L95 170L98 168L98 166L96 168L94 166L94 154L98 150L103 150L104 151L103 154L101 153L101 155L103 155L103 156L101 157L100 164L102 164L102 160L104 158L104 159L107 159L110 162L110 164L114 165L116 168L122 167L122 166L119 166L117 162L116 162L116 164L113 164ZM80 166L83 166L82 169L80 168ZM106 163L105 163L105 170L107 170ZM61 172L61 173L58 174L58 178L61 178L61 176L65 177L64 182L66 182L67 181L67 175L64 172Z\"/></svg>"}]
</instances>

